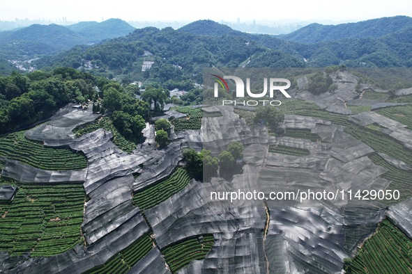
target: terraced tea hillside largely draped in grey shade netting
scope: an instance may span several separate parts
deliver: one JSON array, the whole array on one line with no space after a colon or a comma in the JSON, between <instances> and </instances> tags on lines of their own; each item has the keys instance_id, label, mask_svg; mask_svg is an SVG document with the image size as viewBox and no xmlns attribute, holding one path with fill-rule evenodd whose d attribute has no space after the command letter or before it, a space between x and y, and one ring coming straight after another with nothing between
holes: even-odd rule
<instances>
[{"instance_id":1,"label":"terraced tea hillside largely draped in grey shade netting","mask_svg":"<svg viewBox=\"0 0 412 274\"><path fill-rule=\"evenodd\" d=\"M101 118L77 130L78 138L68 143L88 159L84 177L79 176L84 179L75 181L68 175L70 182L82 181L83 186L10 182L19 189L13 202L0 205L0 250L23 263L27 258L19 255L57 255L38 264L27 261L28 271L33 273L54 269L73 273L339 273L344 259L390 211L388 203L362 202L363 207L358 208L358 201L339 198L316 201L316 207L308 207L312 205L309 201L290 200L289 207L282 200L279 207L275 201L247 200L238 205L229 200L208 200L207 196L209 190L226 190L226 186L259 188L265 194L275 189L340 193L343 188L370 188L396 189L400 200L408 202L412 150L390 135L395 126L406 133L408 129L370 111L369 105L356 105L353 109L360 114L351 114L343 102L339 103L342 111L326 105L321 108L322 104L309 100L285 100L278 108L285 118L281 124L284 131L279 132L270 132L262 124L254 126L254 112L247 108L175 107L171 113L187 115L172 120L180 132L171 136L165 147L144 142L137 150L135 143L118 138L121 136L108 118ZM219 118L222 114L224 119ZM247 122L239 121L239 115ZM214 119L202 121L205 117ZM383 122L374 120L379 118ZM202 129L208 131L207 126L213 125L213 133L222 134L185 132L200 129L202 122ZM41 146L17 137L9 138L10 146L20 142ZM119 151L112 140L130 153ZM244 146L243 168L233 177L197 182L185 167L179 167L183 147L200 150L211 145L213 154L219 155L233 141ZM20 154L16 157L24 159ZM0 168L3 165L0 161ZM397 205L400 200L389 204ZM367 244L380 233L384 236L376 239L388 242L379 242L390 256L385 259L380 257L378 245ZM393 225L387 228L384 221L369 241L358 252L360 259L348 260L346 266L353 264L353 273L410 270L407 262L411 258L406 255L410 256L412 245L397 236ZM371 263L383 260L399 266ZM0 266L4 265L0 261ZM24 266L18 264L11 271L25 271Z\"/></svg>"}]
</instances>

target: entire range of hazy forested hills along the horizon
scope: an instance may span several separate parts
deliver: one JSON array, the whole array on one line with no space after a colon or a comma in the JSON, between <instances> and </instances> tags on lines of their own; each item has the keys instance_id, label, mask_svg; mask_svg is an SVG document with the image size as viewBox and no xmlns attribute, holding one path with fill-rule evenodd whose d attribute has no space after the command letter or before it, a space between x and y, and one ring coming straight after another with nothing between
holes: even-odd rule
<instances>
[{"instance_id":1,"label":"entire range of hazy forested hills along the horizon","mask_svg":"<svg viewBox=\"0 0 412 274\"><path fill-rule=\"evenodd\" d=\"M243 33L211 20L192 22L178 30L170 27L133 30L120 19L102 23L80 22L67 27L33 25L0 33L0 57L47 57L38 61L39 67L66 65L78 68L84 61L91 61L98 64L95 68L103 75L127 71L134 79L142 70L138 65L142 62L139 56L149 51L153 54L154 67L168 71L153 70L157 71L154 76L163 75L159 78L162 80L172 79L182 72L189 75L211 65L412 66L412 18L406 16L336 26L311 24L288 35ZM130 34L125 35L127 33ZM91 45L114 37L118 38ZM75 45L86 46L70 49ZM67 52L53 56L66 49Z\"/></svg>"}]
</instances>

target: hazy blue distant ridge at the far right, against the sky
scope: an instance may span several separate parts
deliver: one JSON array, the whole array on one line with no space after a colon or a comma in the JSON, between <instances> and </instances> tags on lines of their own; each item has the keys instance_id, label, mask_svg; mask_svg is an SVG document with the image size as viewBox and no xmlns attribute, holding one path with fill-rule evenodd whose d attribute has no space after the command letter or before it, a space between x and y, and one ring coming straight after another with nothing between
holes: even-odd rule
<instances>
[{"instance_id":1,"label":"hazy blue distant ridge at the far right, against the sky","mask_svg":"<svg viewBox=\"0 0 412 274\"><path fill-rule=\"evenodd\" d=\"M379 38L395 31L412 27L412 18L407 16L383 17L363 22L322 25L310 24L281 38L303 43L336 41L346 38Z\"/></svg>"}]
</instances>

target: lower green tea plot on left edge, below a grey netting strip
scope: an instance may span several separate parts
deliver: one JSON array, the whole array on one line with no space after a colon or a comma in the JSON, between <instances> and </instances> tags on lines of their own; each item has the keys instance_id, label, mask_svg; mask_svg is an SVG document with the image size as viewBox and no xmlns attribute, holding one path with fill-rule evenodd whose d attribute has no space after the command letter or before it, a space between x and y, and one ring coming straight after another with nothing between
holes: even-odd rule
<instances>
[{"instance_id":1,"label":"lower green tea plot on left edge, below a grey netting strip","mask_svg":"<svg viewBox=\"0 0 412 274\"><path fill-rule=\"evenodd\" d=\"M49 257L82 243L82 184L0 183L18 187L13 202L0 204L0 250L12 256Z\"/></svg>"}]
</instances>

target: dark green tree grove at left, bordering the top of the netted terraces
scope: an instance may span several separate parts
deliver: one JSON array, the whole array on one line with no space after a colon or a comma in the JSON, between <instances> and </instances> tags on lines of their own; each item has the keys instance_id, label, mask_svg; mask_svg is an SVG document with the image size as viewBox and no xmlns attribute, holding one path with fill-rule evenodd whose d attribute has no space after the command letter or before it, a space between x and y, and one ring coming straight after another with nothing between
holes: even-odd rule
<instances>
[{"instance_id":1,"label":"dark green tree grove at left, bordering the top of the netted terraces","mask_svg":"<svg viewBox=\"0 0 412 274\"><path fill-rule=\"evenodd\" d=\"M147 102L116 81L70 67L26 75L13 72L0 77L0 134L49 118L70 102L84 107L93 104L94 112L107 111L114 127L129 139L140 137L150 114Z\"/></svg>"}]
</instances>

